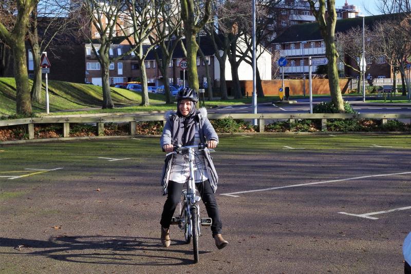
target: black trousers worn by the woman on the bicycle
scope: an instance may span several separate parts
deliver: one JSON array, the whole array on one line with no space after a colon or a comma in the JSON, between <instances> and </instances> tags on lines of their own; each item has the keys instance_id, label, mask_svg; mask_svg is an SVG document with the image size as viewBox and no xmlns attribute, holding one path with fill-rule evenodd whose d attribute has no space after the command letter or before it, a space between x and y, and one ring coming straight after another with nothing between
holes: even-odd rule
<instances>
[{"instance_id":1,"label":"black trousers worn by the woman on the bicycle","mask_svg":"<svg viewBox=\"0 0 411 274\"><path fill-rule=\"evenodd\" d=\"M161 214L160 221L161 226L164 228L170 227L171 218L173 218L174 211L176 210L176 207L181 200L181 191L183 190L184 185L185 184L169 181L169 185L167 186L169 192L164 203L163 213ZM209 218L213 220L213 223L211 225L213 237L215 234L221 234L222 223L220 219L220 213L209 180L197 183L196 187L198 189L198 192L200 193L200 197L204 203L204 206L206 206Z\"/></svg>"}]
</instances>

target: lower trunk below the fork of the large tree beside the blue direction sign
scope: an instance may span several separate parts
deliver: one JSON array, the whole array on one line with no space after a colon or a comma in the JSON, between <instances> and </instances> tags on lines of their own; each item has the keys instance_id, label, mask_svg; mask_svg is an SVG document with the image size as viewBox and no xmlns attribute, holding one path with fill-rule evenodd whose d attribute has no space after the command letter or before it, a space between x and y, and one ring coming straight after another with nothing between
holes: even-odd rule
<instances>
[{"instance_id":1,"label":"lower trunk below the fork of the large tree beside the blue direction sign","mask_svg":"<svg viewBox=\"0 0 411 274\"><path fill-rule=\"evenodd\" d=\"M332 36L333 37L333 36ZM341 112L344 112L344 101L343 96L341 95L340 81L338 77L338 52L335 48L334 41L329 41L325 39L326 53L325 55L328 58L328 85L331 93L331 101L334 103L335 107Z\"/></svg>"}]
</instances>

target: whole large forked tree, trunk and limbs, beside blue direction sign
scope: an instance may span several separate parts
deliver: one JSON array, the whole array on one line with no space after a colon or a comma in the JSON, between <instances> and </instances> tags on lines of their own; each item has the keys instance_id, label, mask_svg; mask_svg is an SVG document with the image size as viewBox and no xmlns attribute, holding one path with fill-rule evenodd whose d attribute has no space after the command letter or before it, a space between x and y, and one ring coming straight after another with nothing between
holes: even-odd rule
<instances>
[{"instance_id":1,"label":"whole large forked tree, trunk and limbs, beside blue direction sign","mask_svg":"<svg viewBox=\"0 0 411 274\"><path fill-rule=\"evenodd\" d=\"M335 0L307 0L310 4L312 14L319 24L321 35L325 42L325 55L328 58L328 85L330 87L331 101L335 107L344 112L344 101L341 95L338 77L338 52L335 47L335 24L337 23L337 12L335 11ZM315 5L319 5L319 9Z\"/></svg>"}]
</instances>

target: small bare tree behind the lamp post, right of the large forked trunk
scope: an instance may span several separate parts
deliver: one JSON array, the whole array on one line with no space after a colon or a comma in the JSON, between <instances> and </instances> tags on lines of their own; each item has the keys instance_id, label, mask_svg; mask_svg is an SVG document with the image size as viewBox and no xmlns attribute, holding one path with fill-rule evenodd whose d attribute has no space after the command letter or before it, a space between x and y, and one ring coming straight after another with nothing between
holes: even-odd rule
<instances>
[{"instance_id":1,"label":"small bare tree behind the lamp post, right of the large forked trunk","mask_svg":"<svg viewBox=\"0 0 411 274\"><path fill-rule=\"evenodd\" d=\"M366 70L370 68L370 65L377 60L377 43L375 35L369 29L365 27L365 61L367 64ZM363 73L360 69L360 61L363 55L363 29L360 26L352 27L346 32L338 32L335 34L335 44L339 51L339 57L341 62L346 67L351 68L353 71L359 73L359 81L357 90L361 91L361 81L363 80Z\"/></svg>"}]
</instances>

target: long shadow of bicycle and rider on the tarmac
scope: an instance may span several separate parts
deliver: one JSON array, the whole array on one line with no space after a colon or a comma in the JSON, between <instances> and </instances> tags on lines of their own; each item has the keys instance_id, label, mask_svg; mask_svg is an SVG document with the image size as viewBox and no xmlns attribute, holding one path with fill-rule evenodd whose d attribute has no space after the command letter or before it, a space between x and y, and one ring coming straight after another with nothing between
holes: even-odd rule
<instances>
[{"instance_id":1,"label":"long shadow of bicycle and rider on the tarmac","mask_svg":"<svg viewBox=\"0 0 411 274\"><path fill-rule=\"evenodd\" d=\"M164 248L158 238L113 236L55 236L48 241L0 238L0 248L13 248L3 255L43 256L72 263L107 265L187 265L193 263L191 248ZM191 246L190 246L191 247ZM200 254L210 251L199 251ZM180 257L178 256L180 255ZM186 257L186 258L184 258Z\"/></svg>"}]
</instances>

